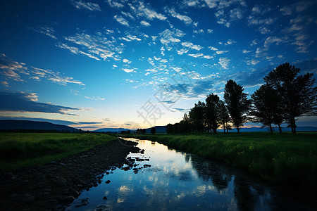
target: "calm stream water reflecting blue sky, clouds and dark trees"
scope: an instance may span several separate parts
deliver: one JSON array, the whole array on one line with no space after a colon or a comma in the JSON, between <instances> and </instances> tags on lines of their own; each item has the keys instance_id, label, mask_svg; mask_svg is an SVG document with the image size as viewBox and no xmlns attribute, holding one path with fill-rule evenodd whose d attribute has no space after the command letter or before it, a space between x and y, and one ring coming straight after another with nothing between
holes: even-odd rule
<instances>
[{"instance_id":1,"label":"calm stream water reflecting blue sky, clouds and dark trees","mask_svg":"<svg viewBox=\"0 0 317 211\"><path fill-rule=\"evenodd\" d=\"M83 191L68 210L314 210L313 198L294 197L246 173L197 155L137 139L144 153L134 170L116 168ZM149 159L149 160L144 160ZM137 159L139 160L139 159ZM110 181L110 183L106 183ZM315 203L315 204L314 204Z\"/></svg>"}]
</instances>

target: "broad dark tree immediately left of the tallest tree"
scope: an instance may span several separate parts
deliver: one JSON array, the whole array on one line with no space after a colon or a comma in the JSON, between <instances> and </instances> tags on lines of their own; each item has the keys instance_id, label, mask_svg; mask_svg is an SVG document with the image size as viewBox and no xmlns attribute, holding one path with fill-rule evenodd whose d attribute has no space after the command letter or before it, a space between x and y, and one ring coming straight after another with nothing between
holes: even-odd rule
<instances>
[{"instance_id":1,"label":"broad dark tree immediately left of the tallest tree","mask_svg":"<svg viewBox=\"0 0 317 211\"><path fill-rule=\"evenodd\" d=\"M264 84L251 95L251 98L254 103L254 110L251 114L256 116L255 121L270 127L271 133L273 133L272 124L278 124L280 133L282 133L280 124L284 118L282 101L278 92L269 84Z\"/></svg>"}]
</instances>

